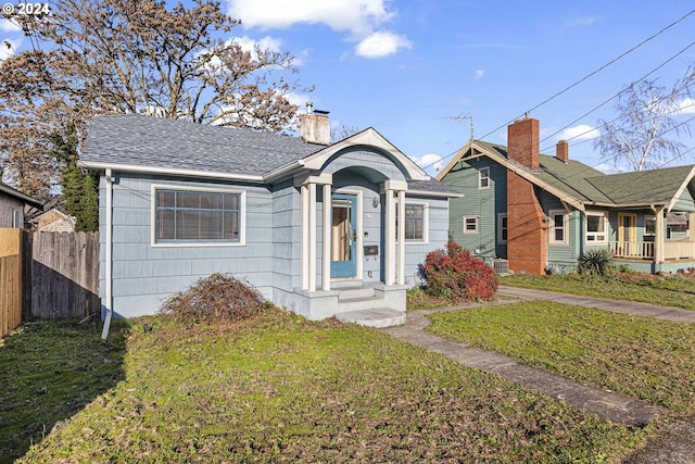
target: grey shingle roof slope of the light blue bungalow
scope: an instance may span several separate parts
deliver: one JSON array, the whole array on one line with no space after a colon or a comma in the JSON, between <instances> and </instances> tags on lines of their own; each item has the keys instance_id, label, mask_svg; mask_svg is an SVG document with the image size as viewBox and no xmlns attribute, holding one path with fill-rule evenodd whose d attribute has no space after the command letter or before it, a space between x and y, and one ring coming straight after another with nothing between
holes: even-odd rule
<instances>
[{"instance_id":1,"label":"grey shingle roof slope of the light blue bungalow","mask_svg":"<svg viewBox=\"0 0 695 464\"><path fill-rule=\"evenodd\" d=\"M260 176L323 148L278 134L122 114L94 117L80 160Z\"/></svg>"}]
</instances>

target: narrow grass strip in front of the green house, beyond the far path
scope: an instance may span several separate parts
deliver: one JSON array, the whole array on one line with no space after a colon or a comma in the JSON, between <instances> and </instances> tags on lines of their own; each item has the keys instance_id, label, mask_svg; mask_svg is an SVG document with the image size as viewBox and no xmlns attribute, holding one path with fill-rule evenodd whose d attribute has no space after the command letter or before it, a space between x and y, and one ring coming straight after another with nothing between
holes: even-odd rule
<instances>
[{"instance_id":1,"label":"narrow grass strip in front of the green house, beyond the far path","mask_svg":"<svg viewBox=\"0 0 695 464\"><path fill-rule=\"evenodd\" d=\"M695 310L695 278L688 277L661 278L647 274L621 274L606 278L579 274L511 275L501 277L500 285Z\"/></svg>"}]
</instances>

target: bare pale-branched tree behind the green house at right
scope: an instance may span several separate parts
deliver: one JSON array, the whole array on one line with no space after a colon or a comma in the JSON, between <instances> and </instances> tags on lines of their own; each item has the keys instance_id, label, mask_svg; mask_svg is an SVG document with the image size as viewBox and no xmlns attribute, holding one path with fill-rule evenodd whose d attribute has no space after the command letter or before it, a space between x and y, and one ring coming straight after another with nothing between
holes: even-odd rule
<instances>
[{"instance_id":1,"label":"bare pale-branched tree behind the green house at right","mask_svg":"<svg viewBox=\"0 0 695 464\"><path fill-rule=\"evenodd\" d=\"M679 136L690 135L687 122L674 116L683 102L690 102L695 85L695 67L670 89L657 80L641 80L626 87L616 103L618 118L598 121L601 137L594 141L616 167L628 164L634 171L659 167L678 158L685 149Z\"/></svg>"}]
</instances>

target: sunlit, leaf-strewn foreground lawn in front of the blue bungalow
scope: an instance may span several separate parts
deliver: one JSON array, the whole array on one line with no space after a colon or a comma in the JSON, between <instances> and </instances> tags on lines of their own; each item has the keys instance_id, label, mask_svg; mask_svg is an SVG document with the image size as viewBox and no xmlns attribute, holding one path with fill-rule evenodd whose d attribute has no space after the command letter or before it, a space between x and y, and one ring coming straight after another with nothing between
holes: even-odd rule
<instances>
[{"instance_id":1,"label":"sunlit, leaf-strewn foreground lawn in front of the blue bungalow","mask_svg":"<svg viewBox=\"0 0 695 464\"><path fill-rule=\"evenodd\" d=\"M333 321L132 324L125 378L20 462L611 462L646 432Z\"/></svg>"}]
</instances>

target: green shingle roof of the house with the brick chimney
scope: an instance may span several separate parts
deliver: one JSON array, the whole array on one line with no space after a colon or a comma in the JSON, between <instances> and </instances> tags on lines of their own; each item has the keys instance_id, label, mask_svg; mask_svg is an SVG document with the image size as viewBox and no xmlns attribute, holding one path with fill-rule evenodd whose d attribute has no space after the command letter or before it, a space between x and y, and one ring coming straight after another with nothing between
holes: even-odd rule
<instances>
[{"instance_id":1,"label":"green shingle roof of the house with the brick chimney","mask_svg":"<svg viewBox=\"0 0 695 464\"><path fill-rule=\"evenodd\" d=\"M507 148L477 140L476 143L508 159ZM665 167L622 174L604 174L579 161L565 163L541 154L538 178L583 203L656 204L669 203L693 166Z\"/></svg>"}]
</instances>

